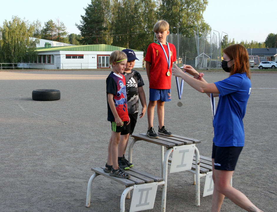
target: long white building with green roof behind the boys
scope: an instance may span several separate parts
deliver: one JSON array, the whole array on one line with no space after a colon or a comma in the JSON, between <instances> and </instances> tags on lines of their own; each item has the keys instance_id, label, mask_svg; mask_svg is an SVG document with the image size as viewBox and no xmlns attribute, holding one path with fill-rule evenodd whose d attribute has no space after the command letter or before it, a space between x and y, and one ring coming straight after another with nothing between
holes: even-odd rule
<instances>
[{"instance_id":1,"label":"long white building with green roof behind the boys","mask_svg":"<svg viewBox=\"0 0 277 212\"><path fill-rule=\"evenodd\" d=\"M44 47L37 48L37 61L24 64L24 68L37 69L100 69L109 68L109 56L123 47L106 44L51 47L46 42ZM133 50L139 59L135 67L142 67L143 52Z\"/></svg>"}]
</instances>

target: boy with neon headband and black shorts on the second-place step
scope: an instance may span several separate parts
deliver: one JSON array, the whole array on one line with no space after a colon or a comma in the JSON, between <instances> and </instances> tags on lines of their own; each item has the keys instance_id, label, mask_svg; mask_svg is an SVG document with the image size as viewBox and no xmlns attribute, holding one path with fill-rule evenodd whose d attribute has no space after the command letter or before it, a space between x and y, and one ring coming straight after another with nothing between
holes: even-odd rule
<instances>
[{"instance_id":1,"label":"boy with neon headband and black shorts on the second-place step","mask_svg":"<svg viewBox=\"0 0 277 212\"><path fill-rule=\"evenodd\" d=\"M127 110L126 82L122 74L126 68L127 55L124 52L114 51L110 54L109 62L112 72L107 77L106 84L108 121L112 124L112 135L108 145L108 159L104 171L113 177L129 178L130 175L119 168L117 161L120 133L130 122Z\"/></svg>"}]
</instances>

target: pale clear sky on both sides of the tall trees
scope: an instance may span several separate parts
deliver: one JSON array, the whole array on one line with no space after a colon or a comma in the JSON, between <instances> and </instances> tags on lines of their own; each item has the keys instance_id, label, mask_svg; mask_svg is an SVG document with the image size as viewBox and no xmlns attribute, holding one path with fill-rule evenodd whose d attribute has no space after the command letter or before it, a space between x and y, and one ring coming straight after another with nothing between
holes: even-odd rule
<instances>
[{"instance_id":1,"label":"pale clear sky on both sides of the tall trees","mask_svg":"<svg viewBox=\"0 0 277 212\"><path fill-rule=\"evenodd\" d=\"M5 20L10 21L12 16L19 16L21 19L30 22L44 22L59 18L67 27L68 33L80 34L75 23L80 24L81 15L84 15L84 8L90 4L90 0L78 1L22 1L10 0L1 2L0 26ZM260 0L209 0L208 6L203 13L205 22L213 30L228 34L228 39L235 39L235 42L258 41L264 42L269 33L277 34L277 11L276 0L268 0L262 3ZM135 20L134 20L135 21ZM218 32L215 32L218 34ZM223 33L223 35L225 35Z\"/></svg>"}]
</instances>

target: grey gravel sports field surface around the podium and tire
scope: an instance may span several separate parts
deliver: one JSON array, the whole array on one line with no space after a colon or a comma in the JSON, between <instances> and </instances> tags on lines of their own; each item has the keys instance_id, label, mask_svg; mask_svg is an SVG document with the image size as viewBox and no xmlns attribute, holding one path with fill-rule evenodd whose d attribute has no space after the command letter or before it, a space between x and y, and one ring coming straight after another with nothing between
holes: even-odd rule
<instances>
[{"instance_id":1,"label":"grey gravel sports field surface around the podium and tire","mask_svg":"<svg viewBox=\"0 0 277 212\"><path fill-rule=\"evenodd\" d=\"M103 176L92 184L91 207L85 207L92 167L107 160L110 122L107 121L106 78L110 71L0 72L0 211L120 211L124 186ZM147 75L146 98L149 97ZM204 72L205 80L228 77ZM253 73L248 100L245 147L233 175L233 187L265 212L276 212L277 199L277 74ZM32 90L58 89L58 101L33 101ZM178 107L175 78L172 101L165 104L165 125L174 134L201 140L200 154L211 156L213 125L210 99L184 85L183 107ZM147 100L148 102L148 100ZM157 115L154 127L157 130ZM147 131L147 116L134 133ZM133 150L135 168L159 175L160 147L138 141ZM212 196L195 206L195 186L188 172L168 175L166 211L210 211ZM126 200L129 211L131 200ZM160 211L161 190L154 208ZM225 198L222 212L243 211Z\"/></svg>"}]
</instances>

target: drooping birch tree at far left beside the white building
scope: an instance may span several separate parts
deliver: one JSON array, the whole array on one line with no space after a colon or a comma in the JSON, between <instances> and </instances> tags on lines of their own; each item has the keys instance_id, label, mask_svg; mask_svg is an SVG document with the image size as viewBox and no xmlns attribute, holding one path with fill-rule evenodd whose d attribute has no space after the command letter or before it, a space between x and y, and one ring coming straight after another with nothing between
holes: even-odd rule
<instances>
[{"instance_id":1,"label":"drooping birch tree at far left beside the white building","mask_svg":"<svg viewBox=\"0 0 277 212\"><path fill-rule=\"evenodd\" d=\"M32 39L39 21L30 23L18 16L11 21L5 20L0 27L0 61L2 63L33 62L37 58L36 44L39 39Z\"/></svg>"}]
</instances>

